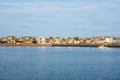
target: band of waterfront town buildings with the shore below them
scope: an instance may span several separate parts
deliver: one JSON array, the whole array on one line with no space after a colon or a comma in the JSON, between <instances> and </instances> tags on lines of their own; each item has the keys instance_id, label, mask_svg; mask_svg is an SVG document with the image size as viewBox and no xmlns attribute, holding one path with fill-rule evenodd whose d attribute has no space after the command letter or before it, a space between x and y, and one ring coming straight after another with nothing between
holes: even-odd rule
<instances>
[{"instance_id":1,"label":"band of waterfront town buildings with the shore below them","mask_svg":"<svg viewBox=\"0 0 120 80\"><path fill-rule=\"evenodd\" d=\"M86 46L86 47L120 47L120 38L115 37L0 37L0 46Z\"/></svg>"}]
</instances>

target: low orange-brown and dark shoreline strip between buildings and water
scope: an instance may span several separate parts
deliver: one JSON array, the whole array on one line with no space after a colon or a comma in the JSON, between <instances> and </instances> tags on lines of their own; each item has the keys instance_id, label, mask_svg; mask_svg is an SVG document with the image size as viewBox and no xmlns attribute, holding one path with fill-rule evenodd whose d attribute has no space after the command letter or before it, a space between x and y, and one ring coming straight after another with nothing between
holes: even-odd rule
<instances>
[{"instance_id":1,"label":"low orange-brown and dark shoreline strip between buildings and water","mask_svg":"<svg viewBox=\"0 0 120 80\"><path fill-rule=\"evenodd\" d=\"M89 44L0 44L0 47L99 47L100 45ZM120 48L120 45L107 45L105 47Z\"/></svg>"}]
</instances>

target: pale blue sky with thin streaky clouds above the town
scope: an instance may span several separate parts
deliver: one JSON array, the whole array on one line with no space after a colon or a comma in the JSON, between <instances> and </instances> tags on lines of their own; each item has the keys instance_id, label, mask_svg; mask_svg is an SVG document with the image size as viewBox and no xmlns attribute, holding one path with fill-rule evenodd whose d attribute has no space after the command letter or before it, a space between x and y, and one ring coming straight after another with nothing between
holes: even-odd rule
<instances>
[{"instance_id":1,"label":"pale blue sky with thin streaky clouds above the town","mask_svg":"<svg viewBox=\"0 0 120 80\"><path fill-rule=\"evenodd\" d=\"M0 36L120 37L120 0L0 0Z\"/></svg>"}]
</instances>

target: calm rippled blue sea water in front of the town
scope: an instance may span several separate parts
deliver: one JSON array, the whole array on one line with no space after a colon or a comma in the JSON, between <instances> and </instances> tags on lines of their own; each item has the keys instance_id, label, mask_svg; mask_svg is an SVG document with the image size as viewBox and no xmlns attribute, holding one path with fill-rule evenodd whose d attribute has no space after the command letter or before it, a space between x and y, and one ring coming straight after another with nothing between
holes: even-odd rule
<instances>
[{"instance_id":1,"label":"calm rippled blue sea water in front of the town","mask_svg":"<svg viewBox=\"0 0 120 80\"><path fill-rule=\"evenodd\" d=\"M120 80L120 49L0 47L0 80Z\"/></svg>"}]
</instances>

